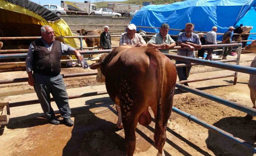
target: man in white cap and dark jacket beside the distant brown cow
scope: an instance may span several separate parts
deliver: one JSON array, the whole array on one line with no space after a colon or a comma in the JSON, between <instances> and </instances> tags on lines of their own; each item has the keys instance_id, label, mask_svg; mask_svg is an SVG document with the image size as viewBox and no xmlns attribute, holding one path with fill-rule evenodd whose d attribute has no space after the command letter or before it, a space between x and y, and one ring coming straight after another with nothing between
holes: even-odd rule
<instances>
[{"instance_id":1,"label":"man in white cap and dark jacket beside the distant brown cow","mask_svg":"<svg viewBox=\"0 0 256 156\"><path fill-rule=\"evenodd\" d=\"M112 49L111 48L111 36L108 33L108 26L104 27L104 31L100 34L100 45L101 49Z\"/></svg>"}]
</instances>

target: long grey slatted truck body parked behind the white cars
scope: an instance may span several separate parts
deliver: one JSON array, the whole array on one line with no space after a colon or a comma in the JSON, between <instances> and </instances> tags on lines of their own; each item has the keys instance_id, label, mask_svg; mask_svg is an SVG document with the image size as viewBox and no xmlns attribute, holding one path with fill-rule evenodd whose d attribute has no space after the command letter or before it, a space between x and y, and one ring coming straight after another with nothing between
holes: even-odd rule
<instances>
[{"instance_id":1,"label":"long grey slatted truck body parked behind the white cars","mask_svg":"<svg viewBox=\"0 0 256 156\"><path fill-rule=\"evenodd\" d=\"M144 6L133 5L133 4L114 3L114 2L108 3L109 9L113 10L114 12L121 13L122 16L125 13L130 13L131 11L139 10L142 7L144 7Z\"/></svg>"}]
</instances>

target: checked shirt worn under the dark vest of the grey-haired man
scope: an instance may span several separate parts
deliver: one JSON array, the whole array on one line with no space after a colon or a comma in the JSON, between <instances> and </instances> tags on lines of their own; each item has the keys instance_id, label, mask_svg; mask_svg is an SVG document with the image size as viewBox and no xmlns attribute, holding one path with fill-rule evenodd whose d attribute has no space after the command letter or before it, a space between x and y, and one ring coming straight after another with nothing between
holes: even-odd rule
<instances>
[{"instance_id":1,"label":"checked shirt worn under the dark vest of the grey-haired man","mask_svg":"<svg viewBox=\"0 0 256 156\"><path fill-rule=\"evenodd\" d=\"M49 52L51 52L52 47L53 47L53 42L48 45L43 38L41 38L41 40L44 42L45 47L49 50ZM34 57L34 46L32 45L32 43L29 45L28 48L28 54L27 54L27 59L26 59L26 70L27 73L33 71L33 57ZM68 52L69 54L72 54L75 51L75 48L73 48L70 45L64 44L61 42L61 49L62 49L62 53L64 52Z\"/></svg>"}]
</instances>

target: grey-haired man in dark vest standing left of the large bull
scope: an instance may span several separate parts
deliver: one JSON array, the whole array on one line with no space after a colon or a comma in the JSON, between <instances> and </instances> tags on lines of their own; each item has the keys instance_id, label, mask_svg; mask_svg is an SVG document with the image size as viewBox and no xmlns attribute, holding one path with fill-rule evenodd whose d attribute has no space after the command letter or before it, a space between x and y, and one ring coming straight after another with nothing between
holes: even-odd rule
<instances>
[{"instance_id":1,"label":"grey-haired man in dark vest standing left of the large bull","mask_svg":"<svg viewBox=\"0 0 256 156\"><path fill-rule=\"evenodd\" d=\"M60 124L51 106L52 93L55 103L67 126L72 126L71 110L68 104L66 86L61 72L61 54L74 53L77 60L83 56L73 47L54 39L54 30L49 25L41 27L42 38L32 42L28 49L26 70L28 84L34 86L41 107L49 123ZM32 74L32 71L33 74Z\"/></svg>"}]
</instances>

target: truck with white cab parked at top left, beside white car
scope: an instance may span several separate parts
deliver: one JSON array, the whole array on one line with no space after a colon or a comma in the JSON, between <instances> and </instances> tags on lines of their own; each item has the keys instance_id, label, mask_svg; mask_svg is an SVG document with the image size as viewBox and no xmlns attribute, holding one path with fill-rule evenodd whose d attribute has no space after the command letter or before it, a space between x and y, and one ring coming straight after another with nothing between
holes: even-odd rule
<instances>
[{"instance_id":1,"label":"truck with white cab parked at top left, beside white car","mask_svg":"<svg viewBox=\"0 0 256 156\"><path fill-rule=\"evenodd\" d=\"M61 7L66 9L66 15L94 15L94 11L97 10L97 6L90 1L61 1Z\"/></svg>"}]
</instances>

